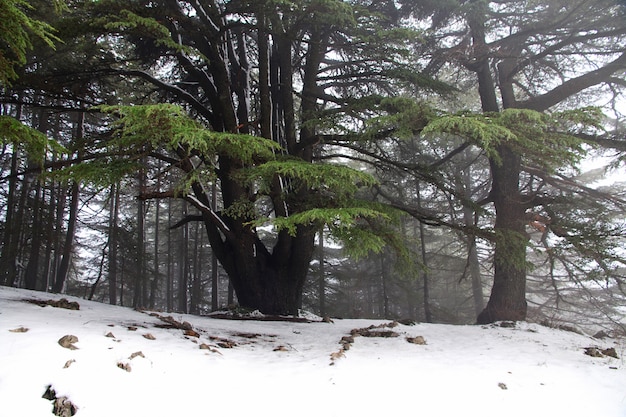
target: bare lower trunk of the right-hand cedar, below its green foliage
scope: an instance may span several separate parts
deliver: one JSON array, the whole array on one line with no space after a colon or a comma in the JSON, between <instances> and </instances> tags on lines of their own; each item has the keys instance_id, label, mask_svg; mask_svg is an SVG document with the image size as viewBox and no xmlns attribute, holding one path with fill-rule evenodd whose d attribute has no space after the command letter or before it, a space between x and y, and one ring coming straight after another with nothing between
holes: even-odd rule
<instances>
[{"instance_id":1,"label":"bare lower trunk of the right-hand cedar, below its green foliage","mask_svg":"<svg viewBox=\"0 0 626 417\"><path fill-rule=\"evenodd\" d=\"M525 211L519 191L521 158L511 148L499 149L501 162L491 161L491 197L496 208L494 282L479 324L526 319Z\"/></svg>"}]
</instances>

